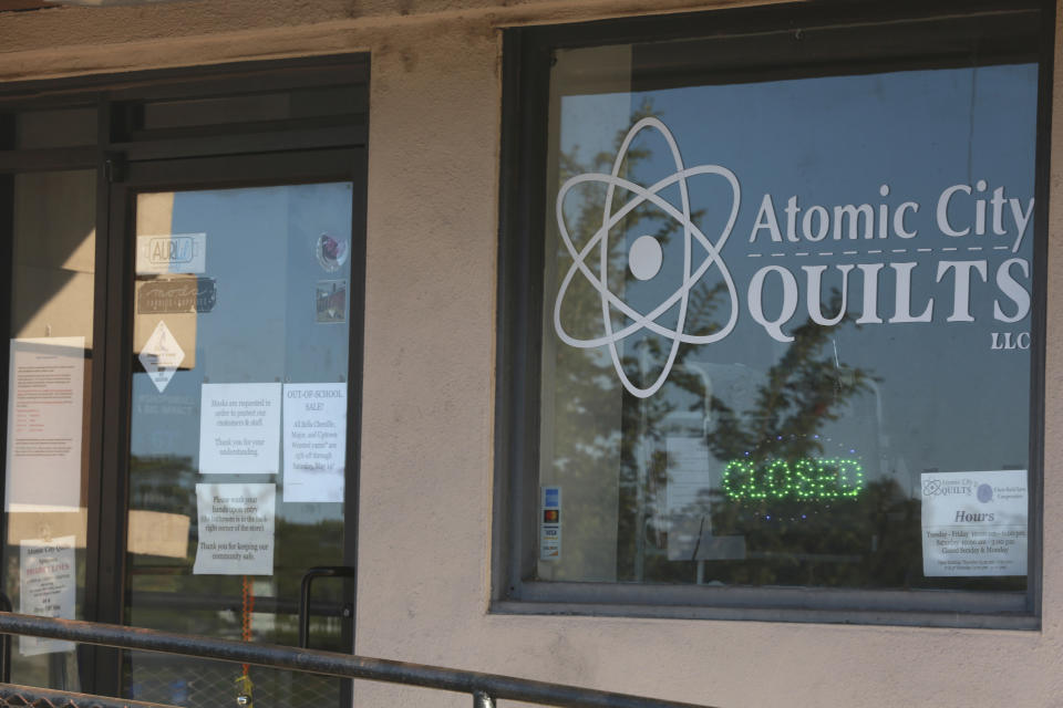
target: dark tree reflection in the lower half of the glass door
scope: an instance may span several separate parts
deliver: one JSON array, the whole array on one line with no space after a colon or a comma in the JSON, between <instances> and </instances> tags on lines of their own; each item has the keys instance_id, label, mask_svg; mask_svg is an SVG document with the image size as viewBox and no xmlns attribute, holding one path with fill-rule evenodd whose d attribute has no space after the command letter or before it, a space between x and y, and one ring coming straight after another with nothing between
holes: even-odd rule
<instances>
[{"instance_id":1,"label":"dark tree reflection in the lower half of the glass door","mask_svg":"<svg viewBox=\"0 0 1063 708\"><path fill-rule=\"evenodd\" d=\"M130 508L187 516L192 520L185 558L130 554L125 620L138 627L239 639L242 628L242 575L194 575L198 543L196 482L204 481L186 456L133 456L130 475ZM231 479L231 478L230 478ZM227 480L229 481L229 480ZM278 509L281 490L278 489ZM270 586L283 611L272 612L259 598L250 613L255 642L298 644L296 607L303 572L313 565L334 565L342 558L343 521L299 523L275 520L274 575L248 577ZM266 581L262 583L262 581ZM342 583L319 583L314 602L343 602ZM272 615L272 616L270 616ZM344 649L337 617L311 615L314 648ZM219 705L235 698L238 665L149 653L124 655L126 695L193 708ZM279 669L251 669L255 698L278 706L312 702L334 705L340 681L308 677ZM309 697L309 698L308 698Z\"/></svg>"}]
</instances>

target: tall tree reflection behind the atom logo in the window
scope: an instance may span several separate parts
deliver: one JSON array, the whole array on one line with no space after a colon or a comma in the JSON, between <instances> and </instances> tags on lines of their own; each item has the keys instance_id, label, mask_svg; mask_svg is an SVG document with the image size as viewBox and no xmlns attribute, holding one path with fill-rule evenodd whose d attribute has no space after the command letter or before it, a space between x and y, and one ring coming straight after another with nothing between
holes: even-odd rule
<instances>
[{"instance_id":1,"label":"tall tree reflection behind the atom logo in the window","mask_svg":"<svg viewBox=\"0 0 1063 708\"><path fill-rule=\"evenodd\" d=\"M632 115L632 122L650 115L649 105L641 106ZM619 148L626 131L618 133L615 147ZM559 181L564 181L576 174L588 171L610 173L616 153L599 153L591 158L591 164L582 164L577 150L570 154L561 153L559 157ZM629 173L639 163L651 157L650 152L638 144L633 144L627 153L627 159L621 175ZM575 211L567 211L568 229L577 249L582 248L602 223L603 190L588 194L574 190L572 201L578 195L587 198L578 201ZM618 190L615 204L622 204L629 195ZM616 207L615 207L616 208ZM629 212L618 223L612 232L652 233L659 242L667 243L677 229L671 219L661 221L648 204ZM610 238L608 250L608 274L606 281L612 292L622 293L627 284L626 243L622 238ZM558 239L557 263L569 263L570 257ZM597 262L597 254L588 258ZM711 299L703 294L695 294L692 301L700 301L702 306L711 308ZM694 303L692 302L692 308ZM623 317L612 312L613 327L625 326ZM569 295L565 302L564 323L568 331L581 336L596 336L602 331L602 309L599 294L591 288L585 287L580 279L574 281ZM646 356L656 358L659 355L660 343L646 340L649 347ZM631 348L631 347L628 347ZM622 549L617 545L617 530L621 537L631 537L633 517L629 513L632 507L626 496L637 496L632 489L632 479L637 470L636 456L639 452L639 435L641 430L647 440L657 436L656 423L661 420L672 408L663 396L656 396L643 402L643 406L630 405L627 394L617 381L609 354L600 350L581 350L570 346L558 346L551 354L553 361L547 365L553 367L555 375L550 382L554 386L554 405L548 406L553 416L546 423L553 434L553 466L557 479L564 480L566 506L579 508L589 504L595 509L617 509L619 516L611 513L569 514L566 524L566 538L579 538L579 543L566 543L564 549L564 564L556 566L559 570L556 577L564 579L571 569L574 577L589 580L612 580L621 562L616 556L623 558ZM632 356L623 355L622 363L632 381L641 382L639 362ZM548 379L547 379L548 381ZM625 396L625 405L617 410L620 396ZM606 412L616 412L616 416ZM639 426L646 423L643 428ZM618 479L619 476L620 478ZM621 498L618 498L618 488Z\"/></svg>"}]
</instances>

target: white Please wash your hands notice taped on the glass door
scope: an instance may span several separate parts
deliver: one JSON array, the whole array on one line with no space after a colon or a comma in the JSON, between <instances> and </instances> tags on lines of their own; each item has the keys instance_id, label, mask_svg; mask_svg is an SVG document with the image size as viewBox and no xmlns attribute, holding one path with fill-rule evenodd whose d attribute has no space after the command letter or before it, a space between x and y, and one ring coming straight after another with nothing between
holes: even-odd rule
<instances>
[{"instance_id":1,"label":"white Please wash your hands notice taped on the glass door","mask_svg":"<svg viewBox=\"0 0 1063 708\"><path fill-rule=\"evenodd\" d=\"M276 485L196 485L196 575L272 575Z\"/></svg>"}]
</instances>

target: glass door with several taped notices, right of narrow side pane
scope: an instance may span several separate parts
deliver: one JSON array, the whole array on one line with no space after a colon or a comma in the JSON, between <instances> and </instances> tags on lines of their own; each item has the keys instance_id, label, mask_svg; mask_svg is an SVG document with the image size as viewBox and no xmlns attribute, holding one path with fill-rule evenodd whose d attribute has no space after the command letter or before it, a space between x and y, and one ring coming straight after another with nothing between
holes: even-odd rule
<instances>
[{"instance_id":1,"label":"glass door with several taped notices, right of narrow side pane","mask_svg":"<svg viewBox=\"0 0 1063 708\"><path fill-rule=\"evenodd\" d=\"M117 394L128 402L127 457L114 482L128 511L124 531L115 527L121 571L101 577L121 587L124 624L296 645L302 579L339 569L313 583L309 646L349 652L359 190L342 170L285 183L226 160L235 179L218 179L207 163L131 168L115 192L131 321ZM279 163L269 169L283 175ZM156 187L169 180L178 186ZM343 693L333 678L115 658L122 695L138 700L328 706Z\"/></svg>"}]
</instances>

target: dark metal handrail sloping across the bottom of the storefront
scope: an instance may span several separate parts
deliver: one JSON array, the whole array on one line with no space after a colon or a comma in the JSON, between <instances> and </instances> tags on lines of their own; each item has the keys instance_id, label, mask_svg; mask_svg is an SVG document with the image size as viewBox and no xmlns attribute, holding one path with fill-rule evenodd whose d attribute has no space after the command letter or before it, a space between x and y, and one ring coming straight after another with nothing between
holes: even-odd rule
<instances>
[{"instance_id":1,"label":"dark metal handrail sloping across the bottom of the storefront","mask_svg":"<svg viewBox=\"0 0 1063 708\"><path fill-rule=\"evenodd\" d=\"M543 706L560 706L563 708L709 708L694 704L594 690L498 674L463 671L337 652L320 652L275 644L251 644L97 622L53 620L10 612L0 612L0 634L65 639L120 649L162 652L339 678L367 679L455 691L471 695L474 708L494 708L495 701L498 699L518 700ZM122 705L135 706L137 704L125 701Z\"/></svg>"}]
</instances>

